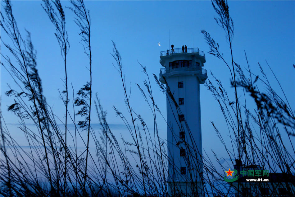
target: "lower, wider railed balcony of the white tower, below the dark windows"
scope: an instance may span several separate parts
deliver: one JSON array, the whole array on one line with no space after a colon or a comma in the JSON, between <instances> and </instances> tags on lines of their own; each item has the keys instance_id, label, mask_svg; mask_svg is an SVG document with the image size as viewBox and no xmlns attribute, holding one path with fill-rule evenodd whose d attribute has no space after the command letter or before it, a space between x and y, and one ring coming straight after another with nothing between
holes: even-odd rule
<instances>
[{"instance_id":1,"label":"lower, wider railed balcony of the white tower, below the dark windows","mask_svg":"<svg viewBox=\"0 0 295 197\"><path fill-rule=\"evenodd\" d=\"M179 68L160 68L160 82L166 83L163 77L180 76L180 75L196 75L199 83L205 83L208 78L207 70L200 66L187 66Z\"/></svg>"}]
</instances>

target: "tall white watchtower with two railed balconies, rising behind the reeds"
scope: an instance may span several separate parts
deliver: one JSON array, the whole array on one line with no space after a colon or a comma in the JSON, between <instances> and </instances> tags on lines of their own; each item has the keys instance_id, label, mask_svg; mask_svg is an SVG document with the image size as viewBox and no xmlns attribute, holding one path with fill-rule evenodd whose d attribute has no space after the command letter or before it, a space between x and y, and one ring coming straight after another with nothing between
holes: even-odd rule
<instances>
[{"instance_id":1,"label":"tall white watchtower with two railed balconies, rising behind the reeds","mask_svg":"<svg viewBox=\"0 0 295 197\"><path fill-rule=\"evenodd\" d=\"M173 46L173 45L172 45ZM168 190L203 196L200 84L207 79L198 48L162 51L160 81L167 89ZM169 96L170 94L170 96ZM173 98L171 98L173 95Z\"/></svg>"}]
</instances>

